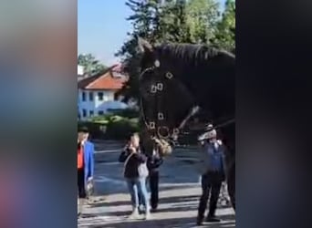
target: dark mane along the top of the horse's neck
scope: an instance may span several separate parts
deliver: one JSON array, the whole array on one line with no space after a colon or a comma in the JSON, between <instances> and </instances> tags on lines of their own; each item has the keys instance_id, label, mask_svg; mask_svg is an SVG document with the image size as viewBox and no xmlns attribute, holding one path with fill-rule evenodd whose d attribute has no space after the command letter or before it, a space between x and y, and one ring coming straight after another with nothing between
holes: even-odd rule
<instances>
[{"instance_id":1,"label":"dark mane along the top of the horse's neck","mask_svg":"<svg viewBox=\"0 0 312 228\"><path fill-rule=\"evenodd\" d=\"M188 66L206 64L209 59L219 55L235 57L230 52L207 45L163 44L157 47L157 50L161 57L170 58L173 61L176 60Z\"/></svg>"}]
</instances>

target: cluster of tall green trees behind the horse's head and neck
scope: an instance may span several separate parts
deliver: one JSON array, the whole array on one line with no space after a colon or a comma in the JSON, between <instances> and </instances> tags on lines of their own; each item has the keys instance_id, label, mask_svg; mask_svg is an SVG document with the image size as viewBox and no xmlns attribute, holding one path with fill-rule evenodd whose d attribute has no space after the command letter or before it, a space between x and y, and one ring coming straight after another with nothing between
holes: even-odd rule
<instances>
[{"instance_id":1,"label":"cluster of tall green trees behind the horse's head and neck","mask_svg":"<svg viewBox=\"0 0 312 228\"><path fill-rule=\"evenodd\" d=\"M213 44L234 47L233 0L220 15L217 0L128 0L133 12L127 18L133 25L129 39L116 54L121 57L130 80L120 90L127 100L139 97L140 55L137 36L152 44L163 42Z\"/></svg>"}]
</instances>

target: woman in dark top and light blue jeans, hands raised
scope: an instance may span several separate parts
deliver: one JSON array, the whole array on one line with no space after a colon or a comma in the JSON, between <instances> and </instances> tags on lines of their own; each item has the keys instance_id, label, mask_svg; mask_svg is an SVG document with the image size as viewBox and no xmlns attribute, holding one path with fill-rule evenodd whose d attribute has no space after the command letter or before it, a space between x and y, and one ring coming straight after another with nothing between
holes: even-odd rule
<instances>
[{"instance_id":1,"label":"woman in dark top and light blue jeans, hands raised","mask_svg":"<svg viewBox=\"0 0 312 228\"><path fill-rule=\"evenodd\" d=\"M150 202L146 189L146 178L139 172L141 164L147 161L147 157L140 152L140 137L138 134L131 136L129 144L120 154L120 162L124 162L124 177L127 181L131 196L132 213L130 219L139 217L139 194L145 207L145 219L150 218Z\"/></svg>"}]
</instances>

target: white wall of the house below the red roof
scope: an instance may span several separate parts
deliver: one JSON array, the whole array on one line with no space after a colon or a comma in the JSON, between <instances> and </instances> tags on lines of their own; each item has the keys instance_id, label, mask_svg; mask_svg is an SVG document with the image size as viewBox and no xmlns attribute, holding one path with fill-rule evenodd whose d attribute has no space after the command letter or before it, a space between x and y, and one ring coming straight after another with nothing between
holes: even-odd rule
<instances>
[{"instance_id":1,"label":"white wall of the house below the red roof","mask_svg":"<svg viewBox=\"0 0 312 228\"><path fill-rule=\"evenodd\" d=\"M86 100L82 100L83 92L85 92ZM89 93L93 94L93 100L89 99ZM103 94L103 98L99 98L99 93ZM90 111L93 111L93 116L99 116L99 111L103 114L108 112L109 101L114 100L115 91L113 90L81 90L78 89L78 112L80 114L80 119L85 120L91 117ZM107 104L106 104L107 103ZM87 111L87 116L83 117L83 110ZM122 109L122 107L120 107Z\"/></svg>"}]
</instances>

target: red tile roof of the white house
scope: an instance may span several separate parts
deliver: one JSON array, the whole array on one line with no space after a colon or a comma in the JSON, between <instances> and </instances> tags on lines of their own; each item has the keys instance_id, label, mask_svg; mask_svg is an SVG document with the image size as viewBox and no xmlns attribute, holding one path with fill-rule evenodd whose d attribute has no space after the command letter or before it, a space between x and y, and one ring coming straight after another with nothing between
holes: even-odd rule
<instances>
[{"instance_id":1,"label":"red tile roof of the white house","mask_svg":"<svg viewBox=\"0 0 312 228\"><path fill-rule=\"evenodd\" d=\"M125 78L114 78L112 70L116 65L109 67L109 69L102 75L96 75L89 78L84 78L78 81L78 88L86 90L119 90L127 81Z\"/></svg>"}]
</instances>

